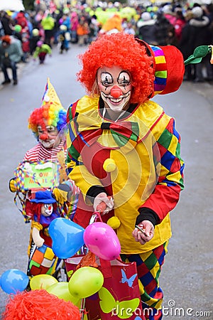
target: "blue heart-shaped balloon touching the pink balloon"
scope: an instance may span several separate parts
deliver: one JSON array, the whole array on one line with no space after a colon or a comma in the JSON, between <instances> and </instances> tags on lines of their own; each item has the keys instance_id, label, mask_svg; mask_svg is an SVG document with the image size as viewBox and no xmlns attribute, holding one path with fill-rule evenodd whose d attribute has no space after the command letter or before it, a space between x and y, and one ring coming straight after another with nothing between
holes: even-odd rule
<instances>
[{"instance_id":1,"label":"blue heart-shaped balloon touching the pink balloon","mask_svg":"<svg viewBox=\"0 0 213 320\"><path fill-rule=\"evenodd\" d=\"M60 259L72 257L84 245L84 228L65 218L54 219L49 226L52 249Z\"/></svg>"}]
</instances>

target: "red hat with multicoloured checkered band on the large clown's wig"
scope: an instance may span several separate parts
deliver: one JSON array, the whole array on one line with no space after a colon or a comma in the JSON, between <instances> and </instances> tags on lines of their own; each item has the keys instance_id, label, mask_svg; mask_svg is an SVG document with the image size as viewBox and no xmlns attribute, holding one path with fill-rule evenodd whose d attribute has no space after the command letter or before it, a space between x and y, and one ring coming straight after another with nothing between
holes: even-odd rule
<instances>
[{"instance_id":1,"label":"red hat with multicoloured checkered band on the large clown's wig","mask_svg":"<svg viewBox=\"0 0 213 320\"><path fill-rule=\"evenodd\" d=\"M141 43L141 46L145 46L147 54L154 58L155 80L151 97L177 91L185 73L180 50L175 46L151 46L138 38L136 41Z\"/></svg>"}]
</instances>

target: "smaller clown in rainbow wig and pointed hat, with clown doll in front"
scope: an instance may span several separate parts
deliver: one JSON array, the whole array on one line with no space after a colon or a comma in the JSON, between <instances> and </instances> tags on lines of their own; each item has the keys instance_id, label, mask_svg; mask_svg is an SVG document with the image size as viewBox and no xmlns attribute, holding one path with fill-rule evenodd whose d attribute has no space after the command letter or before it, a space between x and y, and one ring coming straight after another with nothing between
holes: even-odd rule
<instances>
[{"instance_id":1,"label":"smaller clown in rainbow wig and pointed hat, with clown doll in front","mask_svg":"<svg viewBox=\"0 0 213 320\"><path fill-rule=\"evenodd\" d=\"M55 257L51 249L52 240L48 235L48 225L53 218L64 215L63 211L60 214L58 209L55 208L55 206L57 206L55 204L56 201L62 209L68 201L68 215L72 215L75 211L79 190L77 186L75 186L75 183L68 179L65 171L65 158L67 153L66 110L62 107L49 78L45 86L41 106L35 108L28 118L28 128L32 130L37 143L33 148L26 151L26 154L23 156L23 161L15 171L15 177L9 181L9 188L12 192L16 192L16 196L17 194L19 196L19 193L21 193L21 196L23 195L21 201L23 205L22 214L26 223L31 222L30 244L28 246L28 275L33 277L37 274L48 273L60 278L60 267L58 267L60 260ZM22 183L23 172L27 170L29 164L42 166L49 162L57 164L58 166L59 184L55 184L56 180L53 177L52 185L49 187L38 184L36 188L34 186L34 188L26 189ZM31 178L33 177L30 167L29 175ZM45 191L47 188L48 190ZM36 210L35 206L33 206L33 203L35 205L35 200L37 201L37 205L45 203L43 202L43 198L40 200L36 199L36 194L39 191L44 196L49 193L52 196L54 195L54 198L51 196L50 199L45 199L45 201L50 201L46 203L54 203L54 212L53 214L51 212L48 218L45 218L45 212L43 212L43 214L38 213L38 211L41 210L39 206L36 206ZM45 210L48 209L45 208ZM43 260L41 260L41 256Z\"/></svg>"}]
</instances>

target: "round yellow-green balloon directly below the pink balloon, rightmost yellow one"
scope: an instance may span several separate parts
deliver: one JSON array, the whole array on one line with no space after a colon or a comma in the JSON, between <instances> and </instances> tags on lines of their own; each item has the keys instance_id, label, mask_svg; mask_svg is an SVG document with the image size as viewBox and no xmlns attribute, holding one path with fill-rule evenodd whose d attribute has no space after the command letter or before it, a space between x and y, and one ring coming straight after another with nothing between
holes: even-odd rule
<instances>
[{"instance_id":1,"label":"round yellow-green balloon directly below the pink balloon, rightmost yellow one","mask_svg":"<svg viewBox=\"0 0 213 320\"><path fill-rule=\"evenodd\" d=\"M70 278L68 287L72 296L83 299L92 296L102 288L104 277L94 267L81 267Z\"/></svg>"}]
</instances>

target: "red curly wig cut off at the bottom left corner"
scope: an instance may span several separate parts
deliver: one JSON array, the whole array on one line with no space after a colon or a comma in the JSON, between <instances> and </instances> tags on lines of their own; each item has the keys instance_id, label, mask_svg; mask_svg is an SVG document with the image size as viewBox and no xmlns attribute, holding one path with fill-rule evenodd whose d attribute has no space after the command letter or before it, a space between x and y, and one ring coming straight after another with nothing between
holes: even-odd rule
<instances>
[{"instance_id":1,"label":"red curly wig cut off at the bottom left corner","mask_svg":"<svg viewBox=\"0 0 213 320\"><path fill-rule=\"evenodd\" d=\"M64 299L44 289L10 296L3 314L4 320L80 320L80 310Z\"/></svg>"}]
</instances>

